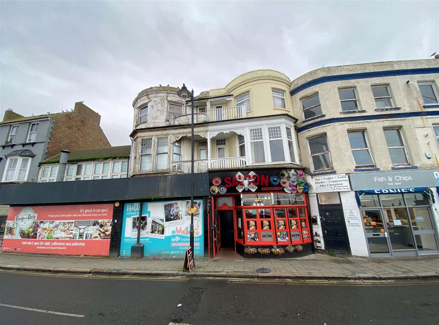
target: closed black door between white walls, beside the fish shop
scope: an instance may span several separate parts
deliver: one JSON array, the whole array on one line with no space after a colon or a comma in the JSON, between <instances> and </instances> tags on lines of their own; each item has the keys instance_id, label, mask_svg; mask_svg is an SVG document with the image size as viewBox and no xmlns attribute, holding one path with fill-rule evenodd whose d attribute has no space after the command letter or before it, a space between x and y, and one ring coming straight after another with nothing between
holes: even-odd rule
<instances>
[{"instance_id":1,"label":"closed black door between white walls, beside the fish shop","mask_svg":"<svg viewBox=\"0 0 439 325\"><path fill-rule=\"evenodd\" d=\"M346 224L340 204L320 205L320 222L329 253L349 254Z\"/></svg>"}]
</instances>

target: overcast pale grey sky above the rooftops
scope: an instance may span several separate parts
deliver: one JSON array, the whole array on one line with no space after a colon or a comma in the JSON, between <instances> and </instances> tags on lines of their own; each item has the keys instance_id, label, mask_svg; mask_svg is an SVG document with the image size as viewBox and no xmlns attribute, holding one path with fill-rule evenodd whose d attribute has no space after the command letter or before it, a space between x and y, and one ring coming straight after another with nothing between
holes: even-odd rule
<instances>
[{"instance_id":1,"label":"overcast pale grey sky above the rooftops","mask_svg":"<svg viewBox=\"0 0 439 325\"><path fill-rule=\"evenodd\" d=\"M241 73L291 80L322 66L439 52L439 1L1 1L0 117L101 115L130 144L133 99L158 84L201 91Z\"/></svg>"}]
</instances>

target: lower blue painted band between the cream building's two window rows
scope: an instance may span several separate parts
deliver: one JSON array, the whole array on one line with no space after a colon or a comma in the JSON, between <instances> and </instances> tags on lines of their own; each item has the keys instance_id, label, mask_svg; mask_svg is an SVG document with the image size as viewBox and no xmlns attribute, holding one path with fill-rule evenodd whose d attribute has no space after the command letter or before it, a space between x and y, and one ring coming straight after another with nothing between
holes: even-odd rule
<instances>
[{"instance_id":1,"label":"lower blue painted band between the cream building's two window rows","mask_svg":"<svg viewBox=\"0 0 439 325\"><path fill-rule=\"evenodd\" d=\"M424 112L406 112L406 113L389 113L389 114L374 114L374 115L360 115L360 116L345 116L345 117L333 117L331 119L324 119L323 121L314 122L297 129L297 133L305 130L312 129L313 127L340 123L340 122L353 122L353 121L370 121L372 119L396 119L401 117L413 117L413 116L439 116L439 111L424 111Z\"/></svg>"}]
</instances>

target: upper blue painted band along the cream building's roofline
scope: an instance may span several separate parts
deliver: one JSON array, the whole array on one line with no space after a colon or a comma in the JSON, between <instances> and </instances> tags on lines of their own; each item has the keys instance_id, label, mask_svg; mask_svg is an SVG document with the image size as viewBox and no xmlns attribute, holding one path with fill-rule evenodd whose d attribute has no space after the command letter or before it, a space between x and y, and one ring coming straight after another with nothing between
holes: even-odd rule
<instances>
[{"instance_id":1,"label":"upper blue painted band along the cream building's roofline","mask_svg":"<svg viewBox=\"0 0 439 325\"><path fill-rule=\"evenodd\" d=\"M302 83L300 86L292 89L290 91L290 95L293 96L297 94L299 91L302 91L306 88L318 85L320 83L327 83L330 81L365 79L365 78L376 78L376 77L387 77L387 76L421 75L426 73L439 73L439 68L385 70L385 71L374 71L374 72L349 73L345 75L335 75L335 76L324 76L308 81L306 83Z\"/></svg>"}]
</instances>

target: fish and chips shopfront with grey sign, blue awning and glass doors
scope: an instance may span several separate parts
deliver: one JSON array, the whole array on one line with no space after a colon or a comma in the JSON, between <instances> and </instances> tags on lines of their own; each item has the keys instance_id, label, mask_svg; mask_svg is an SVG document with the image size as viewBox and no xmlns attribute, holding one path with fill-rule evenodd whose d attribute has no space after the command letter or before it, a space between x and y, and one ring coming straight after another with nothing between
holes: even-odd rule
<instances>
[{"instance_id":1,"label":"fish and chips shopfront with grey sign, blue awning and glass doors","mask_svg":"<svg viewBox=\"0 0 439 325\"><path fill-rule=\"evenodd\" d=\"M439 253L435 187L439 170L361 173L350 178L370 256Z\"/></svg>"}]
</instances>

